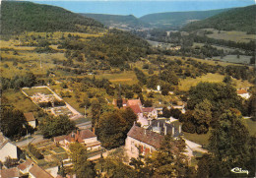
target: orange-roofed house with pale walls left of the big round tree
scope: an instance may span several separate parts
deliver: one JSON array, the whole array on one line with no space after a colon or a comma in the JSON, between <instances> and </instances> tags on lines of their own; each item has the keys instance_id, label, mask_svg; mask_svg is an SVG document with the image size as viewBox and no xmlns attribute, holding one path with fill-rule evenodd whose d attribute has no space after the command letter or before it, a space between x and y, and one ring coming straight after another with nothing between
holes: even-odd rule
<instances>
[{"instance_id":1,"label":"orange-roofed house with pale walls left of the big round tree","mask_svg":"<svg viewBox=\"0 0 256 178\"><path fill-rule=\"evenodd\" d=\"M84 144L88 150L100 148L101 143L97 141L96 135L89 129L77 130L67 136L59 136L54 138L54 142L68 149L69 145L75 142Z\"/></svg>"}]
</instances>

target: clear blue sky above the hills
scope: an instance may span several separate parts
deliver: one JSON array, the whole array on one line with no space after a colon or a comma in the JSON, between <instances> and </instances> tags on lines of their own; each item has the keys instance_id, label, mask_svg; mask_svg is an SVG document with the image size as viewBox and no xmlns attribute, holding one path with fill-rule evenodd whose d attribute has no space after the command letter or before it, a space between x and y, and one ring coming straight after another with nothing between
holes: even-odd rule
<instances>
[{"instance_id":1,"label":"clear blue sky above the hills","mask_svg":"<svg viewBox=\"0 0 256 178\"><path fill-rule=\"evenodd\" d=\"M256 0L29 0L62 7L74 13L134 15L162 12L204 11L244 7Z\"/></svg>"}]
</instances>

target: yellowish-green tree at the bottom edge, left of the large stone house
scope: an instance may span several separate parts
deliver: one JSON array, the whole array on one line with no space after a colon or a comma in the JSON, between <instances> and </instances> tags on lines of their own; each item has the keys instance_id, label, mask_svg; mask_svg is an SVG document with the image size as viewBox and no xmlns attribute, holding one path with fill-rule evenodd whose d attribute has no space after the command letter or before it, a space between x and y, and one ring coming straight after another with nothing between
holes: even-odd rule
<instances>
[{"instance_id":1,"label":"yellowish-green tree at the bottom edge, left of the large stone house","mask_svg":"<svg viewBox=\"0 0 256 178\"><path fill-rule=\"evenodd\" d=\"M73 162L73 171L78 178L94 178L96 177L96 164L88 160L87 148L79 143L71 144L70 156Z\"/></svg>"}]
</instances>

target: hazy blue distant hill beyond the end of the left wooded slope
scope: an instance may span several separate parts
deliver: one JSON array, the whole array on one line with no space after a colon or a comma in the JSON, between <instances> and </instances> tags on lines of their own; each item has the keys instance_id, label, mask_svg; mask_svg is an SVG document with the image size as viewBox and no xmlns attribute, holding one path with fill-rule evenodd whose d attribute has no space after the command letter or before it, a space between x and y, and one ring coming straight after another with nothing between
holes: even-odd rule
<instances>
[{"instance_id":1,"label":"hazy blue distant hill beyond the end of the left wooded slope","mask_svg":"<svg viewBox=\"0 0 256 178\"><path fill-rule=\"evenodd\" d=\"M105 26L127 26L129 28L141 28L149 27L147 23L144 23L134 17L133 15L129 16L120 16L120 15L106 15L106 14L81 14L85 17L95 19L96 21L102 23Z\"/></svg>"}]
</instances>

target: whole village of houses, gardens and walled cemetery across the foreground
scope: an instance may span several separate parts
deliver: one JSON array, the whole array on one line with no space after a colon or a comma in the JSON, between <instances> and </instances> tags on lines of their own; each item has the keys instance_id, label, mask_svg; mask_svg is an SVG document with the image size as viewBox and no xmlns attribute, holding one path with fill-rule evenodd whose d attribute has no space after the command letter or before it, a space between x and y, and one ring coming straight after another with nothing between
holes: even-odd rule
<instances>
[{"instance_id":1,"label":"whole village of houses, gardens and walled cemetery across the foreground","mask_svg":"<svg viewBox=\"0 0 256 178\"><path fill-rule=\"evenodd\" d=\"M76 111L71 105L65 102L59 95L47 86L34 87L32 89L25 88L21 90L32 102L43 109L46 113L58 116L66 115L70 120L76 120L85 117L82 113ZM38 92L37 92L38 91ZM148 91L160 92L160 86L156 90ZM171 93L171 92L170 92ZM247 89L237 89L237 95L248 99L250 97ZM137 116L130 131L127 134L125 145L122 147L127 162L139 155L148 156L160 148L163 137L170 134L171 137L181 137L186 144L186 156L189 158L189 164L195 156L208 152L202 145L194 143L184 137L178 119L169 117L159 117L162 115L162 107L144 107L140 98L126 99L120 93L118 98L113 99L112 104L115 108L131 108ZM177 105L170 105L169 108L180 110L183 114L186 112L186 102L178 102ZM24 116L32 128L38 125L37 119L34 118L32 112L24 113ZM88 150L90 160L97 161L100 157L107 157L114 149L105 149L97 140L95 128L92 128L91 122L77 124L76 130L69 135L54 137L52 139L43 139L41 136L28 135L27 139L18 143L11 142L9 139L0 135L0 151L1 162L9 160L10 169L1 170L1 175L12 175L13 177L21 177L29 175L30 177L60 177L58 175L60 162L64 166L71 166L69 146L73 143L80 143ZM42 159L35 158L30 151L30 146L35 147L43 155ZM18 163L19 162L19 163ZM45 167L45 165L47 166ZM12 165L17 165L13 167ZM39 165L39 166L38 166ZM3 165L2 165L3 166ZM42 168L45 167L45 168ZM72 175L70 175L72 177Z\"/></svg>"}]
</instances>

